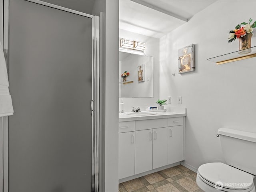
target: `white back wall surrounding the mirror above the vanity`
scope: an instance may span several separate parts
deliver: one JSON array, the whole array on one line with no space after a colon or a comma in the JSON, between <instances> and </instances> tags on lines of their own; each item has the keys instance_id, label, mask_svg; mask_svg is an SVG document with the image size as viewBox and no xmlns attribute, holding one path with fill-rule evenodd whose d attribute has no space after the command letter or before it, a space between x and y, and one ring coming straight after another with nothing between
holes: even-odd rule
<instances>
[{"instance_id":1,"label":"white back wall surrounding the mirror above the vanity","mask_svg":"<svg viewBox=\"0 0 256 192\"><path fill-rule=\"evenodd\" d=\"M156 105L154 102L159 98L159 39L122 29L119 30L119 37L146 42L145 54L154 57L154 98L119 98L119 102L121 99L124 102L124 111L131 111L132 106L140 106L142 110L145 110L148 106Z\"/></svg>"}]
</instances>

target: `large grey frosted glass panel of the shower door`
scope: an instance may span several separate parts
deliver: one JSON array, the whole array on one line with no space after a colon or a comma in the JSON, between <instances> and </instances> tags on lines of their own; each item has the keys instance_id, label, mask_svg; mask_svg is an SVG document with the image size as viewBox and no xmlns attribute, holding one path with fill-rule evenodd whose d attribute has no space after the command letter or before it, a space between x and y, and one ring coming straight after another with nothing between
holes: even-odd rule
<instances>
[{"instance_id":1,"label":"large grey frosted glass panel of the shower door","mask_svg":"<svg viewBox=\"0 0 256 192\"><path fill-rule=\"evenodd\" d=\"M9 3L9 192L92 188L92 18Z\"/></svg>"}]
</instances>

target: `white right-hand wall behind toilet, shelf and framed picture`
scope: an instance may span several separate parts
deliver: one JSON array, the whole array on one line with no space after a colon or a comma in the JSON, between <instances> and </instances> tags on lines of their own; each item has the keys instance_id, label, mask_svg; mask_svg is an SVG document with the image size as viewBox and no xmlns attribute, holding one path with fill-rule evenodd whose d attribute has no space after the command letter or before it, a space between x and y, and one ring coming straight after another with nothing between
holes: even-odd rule
<instances>
[{"instance_id":1,"label":"white right-hand wall behind toilet, shelf and framed picture","mask_svg":"<svg viewBox=\"0 0 256 192\"><path fill-rule=\"evenodd\" d=\"M218 128L256 132L256 58L218 66L207 61L238 50L238 40L228 43L229 31L256 20L255 7L252 0L217 1L160 39L160 98L172 96L177 105L182 96L179 106L187 107L185 163L194 168L224 162ZM196 70L178 74L178 49L189 44L195 44Z\"/></svg>"}]
</instances>

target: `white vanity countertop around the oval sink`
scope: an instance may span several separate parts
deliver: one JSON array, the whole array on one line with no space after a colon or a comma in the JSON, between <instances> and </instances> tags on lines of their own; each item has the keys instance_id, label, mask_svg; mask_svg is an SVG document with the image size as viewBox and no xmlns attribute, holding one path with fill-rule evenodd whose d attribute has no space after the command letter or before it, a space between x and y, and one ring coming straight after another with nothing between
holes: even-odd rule
<instances>
[{"instance_id":1,"label":"white vanity countertop around the oval sink","mask_svg":"<svg viewBox=\"0 0 256 192\"><path fill-rule=\"evenodd\" d=\"M119 114L119 122L147 120L147 119L172 118L172 117L185 117L185 116L186 116L186 111L184 111L184 112L157 112L157 114L155 114L155 115L128 115L128 114L120 113Z\"/></svg>"}]
</instances>

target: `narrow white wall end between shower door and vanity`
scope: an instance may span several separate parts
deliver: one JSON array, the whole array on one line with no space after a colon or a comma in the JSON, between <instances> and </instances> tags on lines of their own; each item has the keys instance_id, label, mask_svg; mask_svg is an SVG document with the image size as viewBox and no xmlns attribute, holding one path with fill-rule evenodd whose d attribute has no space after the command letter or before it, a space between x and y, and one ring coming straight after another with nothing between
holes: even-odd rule
<instances>
[{"instance_id":1,"label":"narrow white wall end between shower door and vanity","mask_svg":"<svg viewBox=\"0 0 256 192\"><path fill-rule=\"evenodd\" d=\"M118 15L119 1L106 0L104 192L118 192Z\"/></svg>"}]
</instances>

